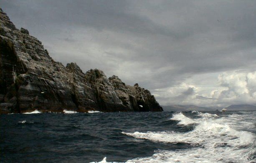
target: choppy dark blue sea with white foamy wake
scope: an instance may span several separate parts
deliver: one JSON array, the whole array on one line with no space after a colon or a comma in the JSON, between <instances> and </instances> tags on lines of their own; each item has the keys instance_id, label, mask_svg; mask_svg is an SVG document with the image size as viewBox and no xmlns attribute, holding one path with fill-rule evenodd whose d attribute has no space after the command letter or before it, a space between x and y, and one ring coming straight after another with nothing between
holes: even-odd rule
<instances>
[{"instance_id":1,"label":"choppy dark blue sea with white foamy wake","mask_svg":"<svg viewBox=\"0 0 256 163\"><path fill-rule=\"evenodd\" d=\"M255 163L256 111L0 115L0 162Z\"/></svg>"}]
</instances>

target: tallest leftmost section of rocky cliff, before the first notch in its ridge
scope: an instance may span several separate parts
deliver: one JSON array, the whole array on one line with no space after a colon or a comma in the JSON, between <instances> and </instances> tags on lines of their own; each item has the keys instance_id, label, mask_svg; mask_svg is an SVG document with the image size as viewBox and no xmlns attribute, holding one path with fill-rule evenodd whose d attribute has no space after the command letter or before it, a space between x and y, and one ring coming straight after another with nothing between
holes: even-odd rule
<instances>
[{"instance_id":1,"label":"tallest leftmost section of rocky cliff, before the first notch in its ridge","mask_svg":"<svg viewBox=\"0 0 256 163\"><path fill-rule=\"evenodd\" d=\"M52 60L40 41L17 30L7 15L0 13L0 80L7 89L1 91L0 106L15 113L76 108L66 68Z\"/></svg>"}]
</instances>

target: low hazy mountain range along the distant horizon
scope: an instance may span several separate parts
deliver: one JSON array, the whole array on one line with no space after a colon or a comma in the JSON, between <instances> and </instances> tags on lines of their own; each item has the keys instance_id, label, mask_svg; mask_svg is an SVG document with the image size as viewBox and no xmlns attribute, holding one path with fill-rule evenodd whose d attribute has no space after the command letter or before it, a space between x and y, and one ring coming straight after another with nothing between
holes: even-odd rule
<instances>
[{"instance_id":1,"label":"low hazy mountain range along the distant horizon","mask_svg":"<svg viewBox=\"0 0 256 163\"><path fill-rule=\"evenodd\" d=\"M192 110L199 110L199 111L210 111L210 110L221 110L222 107L202 107L196 105L168 105L162 106L164 111L192 111ZM255 105L229 105L225 107L227 110L256 110Z\"/></svg>"}]
</instances>

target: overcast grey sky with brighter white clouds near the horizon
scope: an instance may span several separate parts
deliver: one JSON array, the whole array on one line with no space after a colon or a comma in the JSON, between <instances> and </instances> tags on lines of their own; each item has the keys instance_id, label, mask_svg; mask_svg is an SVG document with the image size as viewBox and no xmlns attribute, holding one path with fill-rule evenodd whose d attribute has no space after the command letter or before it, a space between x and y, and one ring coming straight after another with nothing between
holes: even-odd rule
<instances>
[{"instance_id":1,"label":"overcast grey sky with brighter white clouds near the horizon","mask_svg":"<svg viewBox=\"0 0 256 163\"><path fill-rule=\"evenodd\" d=\"M160 105L256 104L255 0L0 0L16 28Z\"/></svg>"}]
</instances>

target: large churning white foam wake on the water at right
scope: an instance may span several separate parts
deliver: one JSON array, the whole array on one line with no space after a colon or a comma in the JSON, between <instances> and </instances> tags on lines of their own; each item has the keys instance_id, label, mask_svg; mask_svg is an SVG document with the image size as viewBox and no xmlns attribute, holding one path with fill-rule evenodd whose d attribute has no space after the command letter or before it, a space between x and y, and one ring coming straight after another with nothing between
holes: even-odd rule
<instances>
[{"instance_id":1,"label":"large churning white foam wake on the water at right","mask_svg":"<svg viewBox=\"0 0 256 163\"><path fill-rule=\"evenodd\" d=\"M162 143L189 143L194 147L180 150L158 151L146 158L134 158L127 160L127 163L251 163L256 158L256 135L244 131L242 126L239 129L233 128L237 120L230 117L218 117L209 113L198 113L200 118L191 119L182 113L174 114L172 120L178 120L183 125L197 123L194 130L177 132L134 132L125 133L137 139L147 139ZM234 115L236 118L243 118L243 115ZM229 122L229 123L228 123ZM233 123L233 125L229 125ZM241 130L242 129L242 130ZM198 146L199 145L199 146Z\"/></svg>"}]
</instances>

